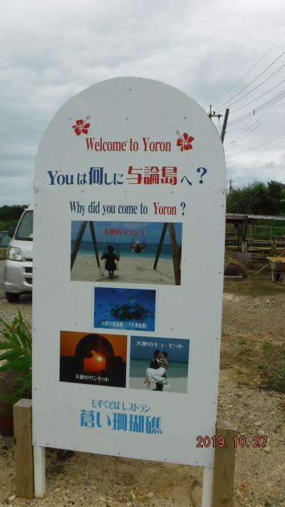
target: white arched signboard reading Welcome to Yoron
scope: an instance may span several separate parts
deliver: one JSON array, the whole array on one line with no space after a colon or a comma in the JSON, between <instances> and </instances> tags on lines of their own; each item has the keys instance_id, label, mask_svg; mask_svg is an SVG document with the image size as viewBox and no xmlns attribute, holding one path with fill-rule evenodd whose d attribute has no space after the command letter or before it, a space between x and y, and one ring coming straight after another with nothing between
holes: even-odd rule
<instances>
[{"instance_id":1,"label":"white arched signboard reading Welcome to Yoron","mask_svg":"<svg viewBox=\"0 0 285 507\"><path fill-rule=\"evenodd\" d=\"M33 444L213 466L224 151L195 101L79 93L35 171Z\"/></svg>"}]
</instances>

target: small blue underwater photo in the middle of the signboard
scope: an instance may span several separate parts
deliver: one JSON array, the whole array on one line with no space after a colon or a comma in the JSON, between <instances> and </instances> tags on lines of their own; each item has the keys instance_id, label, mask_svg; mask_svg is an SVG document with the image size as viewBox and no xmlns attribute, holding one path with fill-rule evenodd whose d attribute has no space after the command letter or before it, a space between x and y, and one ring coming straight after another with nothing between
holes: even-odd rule
<instances>
[{"instance_id":1,"label":"small blue underwater photo in the middle of the signboard","mask_svg":"<svg viewBox=\"0 0 285 507\"><path fill-rule=\"evenodd\" d=\"M155 290L95 287L94 327L155 331Z\"/></svg>"}]
</instances>

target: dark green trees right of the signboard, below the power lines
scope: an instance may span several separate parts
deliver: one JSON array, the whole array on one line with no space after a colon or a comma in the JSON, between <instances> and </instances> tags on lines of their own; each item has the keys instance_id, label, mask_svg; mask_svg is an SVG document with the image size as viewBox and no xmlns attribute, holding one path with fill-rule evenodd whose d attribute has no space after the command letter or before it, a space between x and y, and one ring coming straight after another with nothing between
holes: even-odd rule
<instances>
[{"instance_id":1,"label":"dark green trees right of the signboard, below the power lines","mask_svg":"<svg viewBox=\"0 0 285 507\"><path fill-rule=\"evenodd\" d=\"M285 210L280 201L284 198L285 185L279 181L256 181L242 188L234 188L227 195L228 213L252 215L279 215Z\"/></svg>"}]
</instances>

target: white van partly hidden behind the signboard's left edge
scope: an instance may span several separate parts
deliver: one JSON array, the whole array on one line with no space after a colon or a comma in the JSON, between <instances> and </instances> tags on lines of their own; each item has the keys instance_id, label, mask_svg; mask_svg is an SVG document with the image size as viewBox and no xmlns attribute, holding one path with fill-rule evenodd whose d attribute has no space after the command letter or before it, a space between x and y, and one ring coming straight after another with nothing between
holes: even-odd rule
<instances>
[{"instance_id":1,"label":"white van partly hidden behind the signboard's left edge","mask_svg":"<svg viewBox=\"0 0 285 507\"><path fill-rule=\"evenodd\" d=\"M24 211L12 237L4 267L4 290L10 303L33 289L33 208Z\"/></svg>"}]
</instances>

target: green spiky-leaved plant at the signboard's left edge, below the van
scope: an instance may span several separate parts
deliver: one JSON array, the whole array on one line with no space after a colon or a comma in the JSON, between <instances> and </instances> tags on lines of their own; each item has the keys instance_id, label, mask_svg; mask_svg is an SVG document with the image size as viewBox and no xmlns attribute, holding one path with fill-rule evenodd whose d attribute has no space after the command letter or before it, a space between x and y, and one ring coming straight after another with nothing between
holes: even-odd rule
<instances>
[{"instance_id":1,"label":"green spiky-leaved plant at the signboard's left edge, below the van","mask_svg":"<svg viewBox=\"0 0 285 507\"><path fill-rule=\"evenodd\" d=\"M4 340L0 342L0 372L14 372L15 381L12 394L0 393L0 399L14 404L20 398L31 396L31 329L24 322L21 312L9 324L0 319L0 332Z\"/></svg>"}]
</instances>

